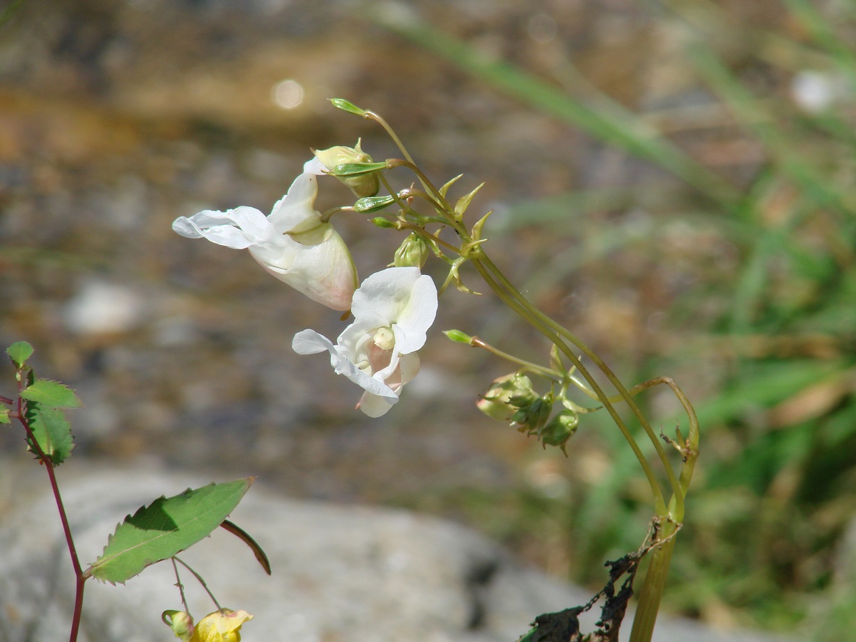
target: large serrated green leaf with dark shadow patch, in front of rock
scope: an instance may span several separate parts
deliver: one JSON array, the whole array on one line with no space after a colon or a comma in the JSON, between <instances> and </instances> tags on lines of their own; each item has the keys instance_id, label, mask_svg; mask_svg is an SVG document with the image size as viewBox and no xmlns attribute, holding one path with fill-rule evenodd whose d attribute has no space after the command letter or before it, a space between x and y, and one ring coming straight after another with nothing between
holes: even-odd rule
<instances>
[{"instance_id":1,"label":"large serrated green leaf with dark shadow patch, in front of rock","mask_svg":"<svg viewBox=\"0 0 856 642\"><path fill-rule=\"evenodd\" d=\"M208 484L140 507L116 527L86 574L110 584L123 583L147 566L180 553L220 526L252 483L250 477Z\"/></svg>"}]
</instances>

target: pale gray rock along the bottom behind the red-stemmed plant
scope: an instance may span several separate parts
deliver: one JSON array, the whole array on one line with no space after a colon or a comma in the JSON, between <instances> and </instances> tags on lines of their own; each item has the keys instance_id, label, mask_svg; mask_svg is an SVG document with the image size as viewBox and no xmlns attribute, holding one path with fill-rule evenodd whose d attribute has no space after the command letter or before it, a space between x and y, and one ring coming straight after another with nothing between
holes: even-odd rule
<instances>
[{"instance_id":1,"label":"pale gray rock along the bottom behind the red-stemmed plant","mask_svg":"<svg viewBox=\"0 0 856 642\"><path fill-rule=\"evenodd\" d=\"M80 461L58 473L84 563L98 556L126 514L162 494L210 481L155 467L95 469ZM0 501L0 639L65 639L73 581L56 509L51 496L31 490L37 481L32 473L14 481L12 506L2 508ZM255 615L243 629L246 642L513 642L535 615L588 599L586 591L520 567L461 526L404 511L298 502L260 486L251 488L231 519L270 556L271 577L222 530L181 554L223 606ZM181 580L197 619L214 610L190 574ZM168 562L125 586L88 582L81 642L172 639L159 618L163 610L181 609L174 584ZM714 633L662 618L655 639L774 638Z\"/></svg>"}]
</instances>

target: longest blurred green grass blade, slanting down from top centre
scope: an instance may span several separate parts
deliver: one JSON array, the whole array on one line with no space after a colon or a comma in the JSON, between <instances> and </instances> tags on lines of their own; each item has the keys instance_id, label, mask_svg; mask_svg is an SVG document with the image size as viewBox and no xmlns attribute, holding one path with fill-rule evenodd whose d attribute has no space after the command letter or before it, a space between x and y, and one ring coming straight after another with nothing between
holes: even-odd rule
<instances>
[{"instance_id":1,"label":"longest blurred green grass blade, slanting down from top centre","mask_svg":"<svg viewBox=\"0 0 856 642\"><path fill-rule=\"evenodd\" d=\"M657 164L722 207L738 207L740 196L734 187L676 146L663 140L641 119L618 117L614 110L592 110L524 69L496 60L454 36L426 25L408 15L408 10L403 7L389 10L389 4L372 3L368 6L368 15L372 20L427 51L442 56L468 74L473 74L544 113L557 116L585 130L603 142Z\"/></svg>"}]
</instances>

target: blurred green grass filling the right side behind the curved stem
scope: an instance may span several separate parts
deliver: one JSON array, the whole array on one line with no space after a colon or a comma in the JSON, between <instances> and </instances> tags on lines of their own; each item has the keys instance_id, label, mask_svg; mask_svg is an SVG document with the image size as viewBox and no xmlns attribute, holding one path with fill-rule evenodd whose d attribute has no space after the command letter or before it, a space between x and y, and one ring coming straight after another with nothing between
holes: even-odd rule
<instances>
[{"instance_id":1,"label":"blurred green grass filling the right side behind the curved stem","mask_svg":"<svg viewBox=\"0 0 856 642\"><path fill-rule=\"evenodd\" d=\"M846 639L853 617L842 614L856 606L856 591L836 560L856 508L856 11L767 4L779 4L780 19L740 21L720 3L661 3L660 27L681 34L694 78L693 100L662 110L619 104L570 58L562 69L571 81L561 86L543 68L486 55L424 23L377 20L680 179L520 203L507 225L543 225L568 239L567 253L532 276L531 291L603 276L629 259L643 291L666 303L640 322L636 340L647 345L622 366L635 367L638 381L677 378L701 420L671 607ZM574 316L585 324L586 309ZM647 400L665 427L675 423L665 395ZM597 584L604 556L633 549L625 525L644 523L646 506L632 458L597 460L622 447L609 425L597 427L610 448L584 444L570 472L551 463L544 488L535 474L508 490L441 489L441 503L478 515L524 550L550 543L538 559ZM591 421L580 430L591 431Z\"/></svg>"}]
</instances>

